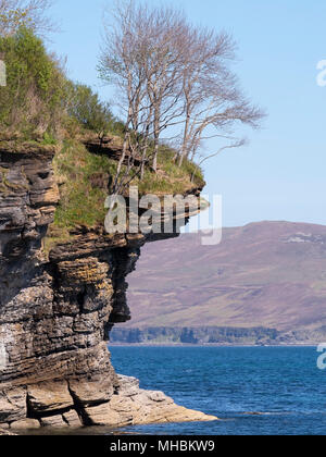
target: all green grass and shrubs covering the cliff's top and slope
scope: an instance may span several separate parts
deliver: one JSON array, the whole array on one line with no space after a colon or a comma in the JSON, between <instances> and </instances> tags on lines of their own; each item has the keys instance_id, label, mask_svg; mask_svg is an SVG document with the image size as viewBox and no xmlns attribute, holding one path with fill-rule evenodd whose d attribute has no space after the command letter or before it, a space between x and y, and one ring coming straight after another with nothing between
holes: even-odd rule
<instances>
[{"instance_id":1,"label":"all green grass and shrubs covering the cliff's top and slope","mask_svg":"<svg viewBox=\"0 0 326 457\"><path fill-rule=\"evenodd\" d=\"M71 239L77 225L102 225L109 182L116 175L118 161L105 152L93 153L83 138L95 140L114 137L123 150L126 128L114 119L110 107L92 89L68 81L54 57L49 55L42 40L32 29L21 26L13 35L0 35L0 57L7 65L7 86L0 87L0 144L8 150L27 150L35 146L58 146L53 161L61 201L55 221L46 239L46 250ZM140 134L129 132L130 137ZM154 141L148 140L148 158ZM203 185L199 168L185 160L175 163L176 150L159 146L156 173L146 165L140 170L121 164L121 173L138 185L140 194L185 194ZM0 171L1 172L1 171ZM7 193L5 176L0 190ZM124 188L123 192L126 192Z\"/></svg>"}]
</instances>

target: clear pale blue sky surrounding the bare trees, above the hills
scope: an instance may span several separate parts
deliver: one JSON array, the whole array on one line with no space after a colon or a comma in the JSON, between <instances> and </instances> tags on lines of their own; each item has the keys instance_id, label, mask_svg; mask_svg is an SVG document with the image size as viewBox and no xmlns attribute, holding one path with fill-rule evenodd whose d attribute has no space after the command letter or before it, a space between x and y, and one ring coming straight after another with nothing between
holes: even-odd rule
<instances>
[{"instance_id":1,"label":"clear pale blue sky surrounding the bare trees, above the hills","mask_svg":"<svg viewBox=\"0 0 326 457\"><path fill-rule=\"evenodd\" d=\"M151 0L150 3L168 3ZM68 75L98 79L102 10L112 0L57 0L52 15L62 32L51 50L67 58ZM325 0L175 0L189 18L233 33L238 42L234 70L268 118L250 132L250 145L206 162L205 193L223 196L225 226L261 220L326 224L326 87L316 83L326 59ZM214 140L208 151L214 151Z\"/></svg>"}]
</instances>

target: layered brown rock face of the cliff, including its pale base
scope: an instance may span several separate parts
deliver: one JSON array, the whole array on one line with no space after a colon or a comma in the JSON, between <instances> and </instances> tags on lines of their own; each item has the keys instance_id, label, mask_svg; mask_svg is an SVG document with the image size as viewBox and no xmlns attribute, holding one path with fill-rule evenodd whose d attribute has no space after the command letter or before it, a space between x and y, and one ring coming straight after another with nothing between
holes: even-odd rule
<instances>
[{"instance_id":1,"label":"layered brown rock face of the cliff, including its pale base","mask_svg":"<svg viewBox=\"0 0 326 457\"><path fill-rule=\"evenodd\" d=\"M0 144L0 427L215 419L115 373L109 332L130 319L126 276L153 238L79 226L46 256L60 198L54 155Z\"/></svg>"}]
</instances>

